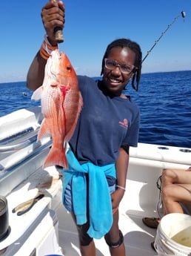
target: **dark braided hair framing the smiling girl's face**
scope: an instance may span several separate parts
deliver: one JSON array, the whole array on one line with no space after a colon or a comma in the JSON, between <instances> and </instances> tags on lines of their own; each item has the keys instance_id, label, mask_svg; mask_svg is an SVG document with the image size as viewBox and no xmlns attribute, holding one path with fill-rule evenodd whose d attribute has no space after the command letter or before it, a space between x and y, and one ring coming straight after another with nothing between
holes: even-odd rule
<instances>
[{"instance_id":1,"label":"dark braided hair framing the smiling girl's face","mask_svg":"<svg viewBox=\"0 0 191 256\"><path fill-rule=\"evenodd\" d=\"M135 73L133 74L133 78L132 78L132 87L135 91L138 91L138 84L141 79L142 52L141 52L141 47L136 42L133 42L130 39L116 39L115 41L111 42L110 45L107 45L107 49L102 59L101 76L104 73L104 59L107 58L107 56L110 53L110 50L114 47L121 47L121 48L128 47L130 48L130 50L133 50L133 52L135 53L136 69L133 70L135 71ZM136 79L136 85L134 83L135 79Z\"/></svg>"}]
</instances>

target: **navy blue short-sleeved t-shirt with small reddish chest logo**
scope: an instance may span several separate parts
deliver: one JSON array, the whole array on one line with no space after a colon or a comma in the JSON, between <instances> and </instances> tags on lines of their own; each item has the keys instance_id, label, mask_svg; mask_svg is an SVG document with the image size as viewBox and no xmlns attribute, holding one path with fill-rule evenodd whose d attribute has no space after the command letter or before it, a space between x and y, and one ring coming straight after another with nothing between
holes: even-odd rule
<instances>
[{"instance_id":1,"label":"navy blue short-sleeved t-shirt with small reddish chest logo","mask_svg":"<svg viewBox=\"0 0 191 256\"><path fill-rule=\"evenodd\" d=\"M130 99L109 96L101 81L78 76L83 108L70 147L79 163L115 163L121 145L137 146L139 110Z\"/></svg>"}]
</instances>

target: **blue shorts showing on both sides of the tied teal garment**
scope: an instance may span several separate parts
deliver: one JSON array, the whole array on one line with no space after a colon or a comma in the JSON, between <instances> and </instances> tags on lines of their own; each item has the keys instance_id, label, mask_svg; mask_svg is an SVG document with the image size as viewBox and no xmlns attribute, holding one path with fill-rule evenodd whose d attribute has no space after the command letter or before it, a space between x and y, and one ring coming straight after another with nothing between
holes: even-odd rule
<instances>
[{"instance_id":1,"label":"blue shorts showing on both sides of the tied teal garment","mask_svg":"<svg viewBox=\"0 0 191 256\"><path fill-rule=\"evenodd\" d=\"M116 179L112 176L106 176L107 183L109 186L110 194L112 194L115 191L116 186ZM64 193L64 206L66 207L67 211L73 211L73 197L72 197L72 179L70 180L70 183L67 184L67 187L65 189Z\"/></svg>"}]
</instances>

